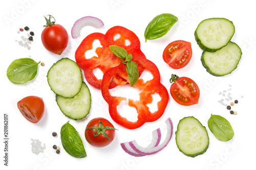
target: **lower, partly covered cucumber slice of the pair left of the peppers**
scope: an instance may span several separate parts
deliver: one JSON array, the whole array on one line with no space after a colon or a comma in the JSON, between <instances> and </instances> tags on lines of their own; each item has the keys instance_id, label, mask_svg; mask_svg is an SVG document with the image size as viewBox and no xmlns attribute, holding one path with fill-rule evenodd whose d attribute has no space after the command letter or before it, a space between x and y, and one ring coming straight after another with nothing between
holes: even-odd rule
<instances>
[{"instance_id":1,"label":"lower, partly covered cucumber slice of the pair left of the peppers","mask_svg":"<svg viewBox=\"0 0 256 170\"><path fill-rule=\"evenodd\" d=\"M74 120L82 119L90 112L91 93L86 83L83 82L80 92L74 98L63 98L56 95L56 102L66 116Z\"/></svg>"}]
</instances>

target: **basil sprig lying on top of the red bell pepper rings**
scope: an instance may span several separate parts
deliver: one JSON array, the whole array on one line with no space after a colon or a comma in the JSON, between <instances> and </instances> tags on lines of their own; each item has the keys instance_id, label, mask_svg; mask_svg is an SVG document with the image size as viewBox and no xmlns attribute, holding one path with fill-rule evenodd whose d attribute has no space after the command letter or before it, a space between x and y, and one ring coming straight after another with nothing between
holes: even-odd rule
<instances>
[{"instance_id":1,"label":"basil sprig lying on top of the red bell pepper rings","mask_svg":"<svg viewBox=\"0 0 256 170\"><path fill-rule=\"evenodd\" d=\"M137 65L132 61L133 56L128 54L127 51L117 45L110 45L110 50L117 56L120 57L124 64L126 64L126 71L130 80L131 87L136 84L139 79L139 70Z\"/></svg>"}]
</instances>

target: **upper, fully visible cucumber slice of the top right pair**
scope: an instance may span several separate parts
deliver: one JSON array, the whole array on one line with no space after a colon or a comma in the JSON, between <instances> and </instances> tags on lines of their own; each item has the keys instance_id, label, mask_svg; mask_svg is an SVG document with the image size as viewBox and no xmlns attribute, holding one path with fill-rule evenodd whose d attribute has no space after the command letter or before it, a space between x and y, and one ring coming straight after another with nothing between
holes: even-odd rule
<instances>
[{"instance_id":1,"label":"upper, fully visible cucumber slice of the top right pair","mask_svg":"<svg viewBox=\"0 0 256 170\"><path fill-rule=\"evenodd\" d=\"M234 35L233 22L226 18L209 18L199 23L195 38L202 50L216 52L226 46Z\"/></svg>"}]
</instances>

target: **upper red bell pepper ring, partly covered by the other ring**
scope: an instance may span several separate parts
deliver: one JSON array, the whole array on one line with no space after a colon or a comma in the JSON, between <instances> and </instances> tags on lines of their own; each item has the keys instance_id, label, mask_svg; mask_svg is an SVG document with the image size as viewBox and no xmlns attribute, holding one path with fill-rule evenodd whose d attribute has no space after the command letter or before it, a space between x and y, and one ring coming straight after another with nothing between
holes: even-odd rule
<instances>
[{"instance_id":1,"label":"upper red bell pepper ring, partly covered by the other ring","mask_svg":"<svg viewBox=\"0 0 256 170\"><path fill-rule=\"evenodd\" d=\"M93 49L94 40L99 40L102 47L96 48L95 53L97 56L86 58L86 52ZM118 66L120 62L122 62L121 58L117 57L110 51L109 45L121 46L129 54L138 54L145 58L145 55L140 50L139 38L134 32L124 27L115 26L109 29L106 34L92 33L88 35L78 46L75 53L75 59L78 66L83 69L84 77L87 82L96 88L101 88L102 79L96 78L93 72L94 69L99 68L104 74L106 70ZM138 70L141 75L143 68L138 66ZM115 77L111 81L110 88L126 83L126 81L119 77Z\"/></svg>"}]
</instances>

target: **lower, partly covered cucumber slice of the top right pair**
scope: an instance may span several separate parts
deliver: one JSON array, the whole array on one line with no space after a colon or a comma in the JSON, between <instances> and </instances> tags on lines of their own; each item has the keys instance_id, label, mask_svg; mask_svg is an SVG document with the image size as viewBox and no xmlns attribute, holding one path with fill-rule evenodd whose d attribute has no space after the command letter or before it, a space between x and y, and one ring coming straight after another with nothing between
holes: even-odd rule
<instances>
[{"instance_id":1,"label":"lower, partly covered cucumber slice of the top right pair","mask_svg":"<svg viewBox=\"0 0 256 170\"><path fill-rule=\"evenodd\" d=\"M241 48L234 42L229 42L221 50L214 53L204 51L201 56L203 66L214 76L225 76L237 68L241 59Z\"/></svg>"}]
</instances>

